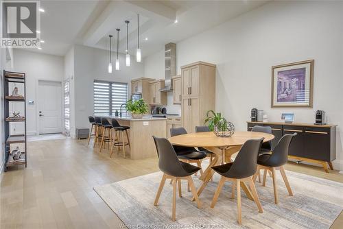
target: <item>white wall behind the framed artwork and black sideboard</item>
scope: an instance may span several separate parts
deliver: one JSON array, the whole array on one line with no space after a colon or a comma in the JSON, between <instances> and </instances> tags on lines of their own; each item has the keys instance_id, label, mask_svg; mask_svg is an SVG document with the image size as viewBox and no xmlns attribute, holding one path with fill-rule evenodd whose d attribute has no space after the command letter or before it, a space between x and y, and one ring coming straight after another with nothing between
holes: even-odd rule
<instances>
[{"instance_id":1,"label":"white wall behind the framed artwork and black sideboard","mask_svg":"<svg viewBox=\"0 0 343 229\"><path fill-rule=\"evenodd\" d=\"M305 123L325 110L327 121L338 124L334 166L343 169L342 24L342 1L274 1L177 43L178 73L199 60L216 64L216 108L237 130L246 130L251 108L270 121L292 110ZM162 73L153 64L159 55L146 58L145 73ZM271 67L309 59L315 60L314 108L270 108Z\"/></svg>"}]
</instances>

